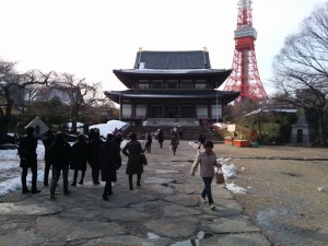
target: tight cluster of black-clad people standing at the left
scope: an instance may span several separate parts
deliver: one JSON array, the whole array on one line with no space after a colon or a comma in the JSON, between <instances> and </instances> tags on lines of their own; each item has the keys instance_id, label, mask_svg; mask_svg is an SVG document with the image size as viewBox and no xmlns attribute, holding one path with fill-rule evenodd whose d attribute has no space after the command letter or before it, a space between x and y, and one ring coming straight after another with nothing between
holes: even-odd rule
<instances>
[{"instance_id":1,"label":"tight cluster of black-clad people standing at the left","mask_svg":"<svg viewBox=\"0 0 328 246\"><path fill-rule=\"evenodd\" d=\"M112 192L112 181L116 181L116 171L121 166L120 143L121 136L107 134L104 142L99 138L97 130L92 131L90 141L84 134L79 134L78 140L71 145L66 140L66 134L58 131L56 134L49 129L43 139L45 147L45 173L44 185L49 185L49 173L52 171L50 198L55 198L56 187L62 175L63 194L69 195L69 169L73 169L73 181L71 186L77 186L78 174L81 172L79 184L83 185L87 163L92 168L92 179L94 185L98 185L99 177L105 181L103 199L107 200ZM37 139L34 137L34 128L26 129L26 137L20 141L19 155L20 166L22 167L22 192L36 194L37 189ZM32 189L27 188L27 171L32 171Z\"/></svg>"}]
</instances>

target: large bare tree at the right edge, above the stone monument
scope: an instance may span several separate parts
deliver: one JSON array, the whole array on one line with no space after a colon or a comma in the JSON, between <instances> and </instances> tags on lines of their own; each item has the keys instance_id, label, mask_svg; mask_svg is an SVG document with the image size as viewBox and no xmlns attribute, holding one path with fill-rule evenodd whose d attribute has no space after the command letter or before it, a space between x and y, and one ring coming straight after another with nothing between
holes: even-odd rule
<instances>
[{"instance_id":1,"label":"large bare tree at the right edge, above the stone monument","mask_svg":"<svg viewBox=\"0 0 328 246\"><path fill-rule=\"evenodd\" d=\"M318 7L286 37L273 61L273 80L280 102L312 112L318 120L317 142L325 143L324 115L328 93L328 3Z\"/></svg>"}]
</instances>

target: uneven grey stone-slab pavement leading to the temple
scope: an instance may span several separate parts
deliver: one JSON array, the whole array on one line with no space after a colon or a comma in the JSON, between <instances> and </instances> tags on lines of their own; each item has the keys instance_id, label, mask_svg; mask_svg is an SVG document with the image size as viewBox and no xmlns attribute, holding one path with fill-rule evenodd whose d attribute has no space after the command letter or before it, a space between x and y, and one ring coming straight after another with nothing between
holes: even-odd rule
<instances>
[{"instance_id":1,"label":"uneven grey stone-slab pavement leading to the temple","mask_svg":"<svg viewBox=\"0 0 328 246\"><path fill-rule=\"evenodd\" d=\"M0 198L0 245L270 245L224 185L212 185L214 211L200 203L202 180L189 174L196 147L180 141L176 155L168 141L163 149L154 141L152 148L141 187L132 191L122 155L108 201L102 199L104 184L92 184L91 168L83 185L70 187L70 196L63 196L60 179L56 200L40 184L40 194L15 191ZM223 153L223 148L236 152L223 144L218 150Z\"/></svg>"}]
</instances>

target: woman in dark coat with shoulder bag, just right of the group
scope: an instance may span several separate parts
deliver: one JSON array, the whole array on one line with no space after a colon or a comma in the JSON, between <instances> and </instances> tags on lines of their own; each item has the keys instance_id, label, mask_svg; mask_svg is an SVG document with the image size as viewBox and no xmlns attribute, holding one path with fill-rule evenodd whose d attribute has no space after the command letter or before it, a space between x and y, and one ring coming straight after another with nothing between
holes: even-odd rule
<instances>
[{"instance_id":1,"label":"woman in dark coat with shoulder bag, just right of the group","mask_svg":"<svg viewBox=\"0 0 328 246\"><path fill-rule=\"evenodd\" d=\"M128 156L128 165L126 174L129 175L129 187L133 190L132 177L137 174L137 186L140 186L141 174L143 173L143 164L141 163L142 150L141 143L137 140L137 133L130 134L130 141L124 147L121 152Z\"/></svg>"}]
</instances>

